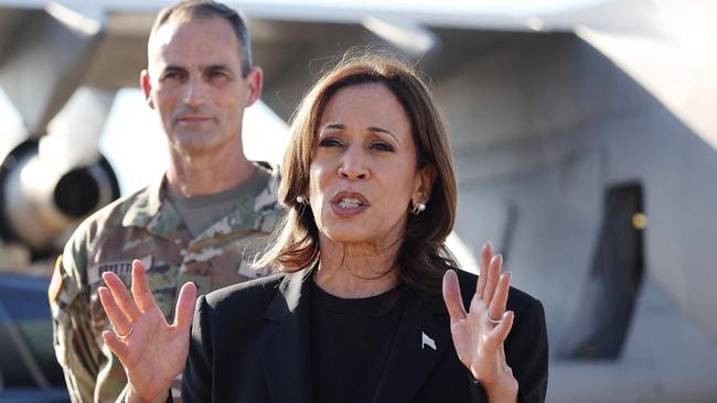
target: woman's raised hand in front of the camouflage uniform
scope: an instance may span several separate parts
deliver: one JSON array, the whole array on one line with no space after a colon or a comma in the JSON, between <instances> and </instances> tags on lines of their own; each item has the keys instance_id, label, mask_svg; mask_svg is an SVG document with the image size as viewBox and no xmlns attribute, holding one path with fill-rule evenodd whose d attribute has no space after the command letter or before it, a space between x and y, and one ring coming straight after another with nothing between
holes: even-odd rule
<instances>
[{"instance_id":1,"label":"woman's raised hand in front of the camouflage uniform","mask_svg":"<svg viewBox=\"0 0 717 403\"><path fill-rule=\"evenodd\" d=\"M139 260L132 261L131 295L115 273L103 273L103 280L107 287L99 287L99 298L114 328L114 333L105 330L103 338L125 367L127 401L164 402L186 361L196 286L182 286L174 323L169 325Z\"/></svg>"}]
</instances>

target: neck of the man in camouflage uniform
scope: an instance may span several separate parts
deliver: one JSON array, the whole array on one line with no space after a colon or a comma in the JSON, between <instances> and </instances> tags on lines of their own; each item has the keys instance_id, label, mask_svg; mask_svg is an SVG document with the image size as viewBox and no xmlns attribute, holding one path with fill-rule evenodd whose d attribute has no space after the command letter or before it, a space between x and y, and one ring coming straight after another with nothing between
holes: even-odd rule
<instances>
[{"instance_id":1,"label":"neck of the man in camouflage uniform","mask_svg":"<svg viewBox=\"0 0 717 403\"><path fill-rule=\"evenodd\" d=\"M244 156L242 144L224 144L201 152L170 151L169 192L184 196L210 195L238 186L256 167Z\"/></svg>"}]
</instances>

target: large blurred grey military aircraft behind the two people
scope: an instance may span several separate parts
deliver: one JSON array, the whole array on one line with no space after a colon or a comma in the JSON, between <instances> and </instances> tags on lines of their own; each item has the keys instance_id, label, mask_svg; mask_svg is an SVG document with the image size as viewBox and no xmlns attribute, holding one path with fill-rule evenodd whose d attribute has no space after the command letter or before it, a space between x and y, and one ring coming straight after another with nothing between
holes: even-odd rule
<instances>
[{"instance_id":1,"label":"large blurred grey military aircraft behind the two people","mask_svg":"<svg viewBox=\"0 0 717 403\"><path fill-rule=\"evenodd\" d=\"M0 86L28 141L0 175L7 244L52 254L116 197L96 138L116 90L136 86L165 3L0 0ZM430 77L449 124L459 176L451 248L474 270L491 239L515 285L545 305L548 401L717 401L717 4L363 3L243 1L264 102L288 120L332 56L376 43L404 53ZM75 172L83 185L66 185ZM60 203L90 182L96 197ZM35 184L44 187L30 192ZM52 401L62 388L45 285L0 277L0 314L17 294L8 287L34 301L0 316L0 401L17 388ZM34 318L42 337L15 325ZM28 335L44 340L24 349L34 364L17 358L14 340Z\"/></svg>"}]
</instances>

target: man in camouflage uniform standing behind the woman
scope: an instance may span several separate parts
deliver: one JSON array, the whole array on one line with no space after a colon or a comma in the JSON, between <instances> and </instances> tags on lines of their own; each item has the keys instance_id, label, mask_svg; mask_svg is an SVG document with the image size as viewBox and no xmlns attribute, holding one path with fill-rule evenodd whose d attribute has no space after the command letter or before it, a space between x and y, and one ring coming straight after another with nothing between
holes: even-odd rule
<instances>
[{"instance_id":1,"label":"man in camouflage uniform standing behind the woman","mask_svg":"<svg viewBox=\"0 0 717 403\"><path fill-rule=\"evenodd\" d=\"M206 293L256 276L250 260L279 215L271 175L242 150L244 108L259 98L261 80L235 11L189 0L158 15L140 85L167 134L169 168L83 222L50 287L55 352L74 402L126 393L122 367L101 339L109 327L97 295L103 272L129 284L132 259L142 260L168 320L185 282Z\"/></svg>"}]
</instances>

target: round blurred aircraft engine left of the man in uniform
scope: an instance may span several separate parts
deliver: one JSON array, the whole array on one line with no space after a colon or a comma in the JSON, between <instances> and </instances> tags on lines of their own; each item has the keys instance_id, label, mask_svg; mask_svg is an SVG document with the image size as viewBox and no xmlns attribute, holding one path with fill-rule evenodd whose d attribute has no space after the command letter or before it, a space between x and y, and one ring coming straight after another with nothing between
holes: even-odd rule
<instances>
[{"instance_id":1,"label":"round blurred aircraft engine left of the man in uniform","mask_svg":"<svg viewBox=\"0 0 717 403\"><path fill-rule=\"evenodd\" d=\"M32 251L33 259L62 250L87 215L119 197L119 184L105 157L66 166L43 157L36 140L15 146L0 165L0 236Z\"/></svg>"}]
</instances>

